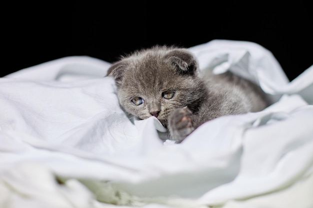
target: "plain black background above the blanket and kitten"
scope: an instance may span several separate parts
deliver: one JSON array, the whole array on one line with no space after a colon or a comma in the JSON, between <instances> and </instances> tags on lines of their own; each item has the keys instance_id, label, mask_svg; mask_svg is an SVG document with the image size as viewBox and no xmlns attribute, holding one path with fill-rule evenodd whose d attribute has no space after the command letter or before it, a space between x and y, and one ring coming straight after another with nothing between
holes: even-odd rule
<instances>
[{"instance_id":1,"label":"plain black background above the blanket and kitten","mask_svg":"<svg viewBox=\"0 0 313 208\"><path fill-rule=\"evenodd\" d=\"M213 39L262 45L289 80L313 64L308 1L96 2L3 5L0 76L65 56L113 62L154 44L191 47Z\"/></svg>"}]
</instances>

